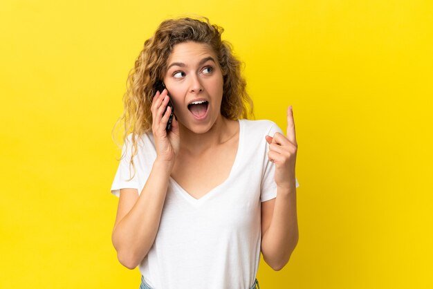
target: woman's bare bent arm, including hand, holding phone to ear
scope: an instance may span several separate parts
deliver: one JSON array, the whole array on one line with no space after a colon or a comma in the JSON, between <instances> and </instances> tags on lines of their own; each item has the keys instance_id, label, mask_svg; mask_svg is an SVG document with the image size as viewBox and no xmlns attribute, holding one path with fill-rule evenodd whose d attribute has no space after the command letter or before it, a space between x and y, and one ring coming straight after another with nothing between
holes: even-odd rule
<instances>
[{"instance_id":1,"label":"woman's bare bent arm, including hand, holding phone to ear","mask_svg":"<svg viewBox=\"0 0 433 289\"><path fill-rule=\"evenodd\" d=\"M167 90L157 92L151 105L152 132L156 160L140 196L137 189L121 189L118 213L111 239L118 259L129 269L136 268L147 255L155 241L167 195L169 176L172 173L180 138L176 119L172 130L165 128L172 112L167 108ZM167 110L166 110L167 108Z\"/></svg>"}]
</instances>

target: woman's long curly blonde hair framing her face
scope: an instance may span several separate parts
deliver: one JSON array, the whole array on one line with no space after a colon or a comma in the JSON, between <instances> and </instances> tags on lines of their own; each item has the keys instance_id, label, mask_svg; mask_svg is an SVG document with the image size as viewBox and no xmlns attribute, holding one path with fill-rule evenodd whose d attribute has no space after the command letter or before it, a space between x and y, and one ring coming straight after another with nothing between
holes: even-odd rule
<instances>
[{"instance_id":1,"label":"woman's long curly blonde hair framing her face","mask_svg":"<svg viewBox=\"0 0 433 289\"><path fill-rule=\"evenodd\" d=\"M127 91L123 97L124 112L116 122L114 131L124 123L123 140L131 135L132 151L130 167L135 165L137 140L142 133L151 131L151 102L156 90L154 84L162 80L167 71L167 59L176 44L194 41L209 44L214 50L223 74L223 99L221 115L230 120L252 116L252 100L246 92L246 81L241 76L241 62L232 53L228 41L221 40L223 28L210 24L208 18L168 19L163 21L154 35L145 41L135 66L127 80ZM124 152L124 155L126 150ZM123 158L123 156L122 156ZM131 177L131 179L133 176Z\"/></svg>"}]
</instances>

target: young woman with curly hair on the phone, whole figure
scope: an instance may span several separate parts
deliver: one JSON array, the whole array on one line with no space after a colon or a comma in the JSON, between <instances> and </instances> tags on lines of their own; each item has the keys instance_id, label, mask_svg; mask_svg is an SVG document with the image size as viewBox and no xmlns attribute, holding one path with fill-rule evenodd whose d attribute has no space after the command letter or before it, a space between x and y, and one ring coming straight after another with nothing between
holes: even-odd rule
<instances>
[{"instance_id":1,"label":"young woman with curly hair on the phone, whole figure","mask_svg":"<svg viewBox=\"0 0 433 289\"><path fill-rule=\"evenodd\" d=\"M129 75L112 241L140 288L257 288L260 252L280 270L297 244L291 107L287 136L244 119L252 102L221 32L164 21Z\"/></svg>"}]
</instances>

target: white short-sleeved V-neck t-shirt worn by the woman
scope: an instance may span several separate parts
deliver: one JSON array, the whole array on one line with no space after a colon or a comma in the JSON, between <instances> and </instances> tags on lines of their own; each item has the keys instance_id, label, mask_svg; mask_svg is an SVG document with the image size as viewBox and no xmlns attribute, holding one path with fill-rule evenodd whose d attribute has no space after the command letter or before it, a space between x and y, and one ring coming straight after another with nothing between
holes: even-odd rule
<instances>
[{"instance_id":1,"label":"white short-sleeved V-neck t-shirt worn by the woman","mask_svg":"<svg viewBox=\"0 0 433 289\"><path fill-rule=\"evenodd\" d=\"M239 120L239 147L228 178L196 199L169 179L154 245L139 268L154 289L245 289L255 281L260 260L261 202L277 196L275 164L265 136L282 132L269 120ZM134 156L120 160L111 193L142 191L156 158L154 138L144 134ZM124 145L123 151L126 146ZM298 183L296 180L296 187Z\"/></svg>"}]
</instances>

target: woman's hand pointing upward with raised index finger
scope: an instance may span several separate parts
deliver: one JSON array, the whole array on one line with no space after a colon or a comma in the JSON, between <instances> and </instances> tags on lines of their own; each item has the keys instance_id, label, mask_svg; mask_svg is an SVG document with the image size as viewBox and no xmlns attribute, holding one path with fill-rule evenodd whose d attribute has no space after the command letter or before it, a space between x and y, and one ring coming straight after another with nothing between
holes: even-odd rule
<instances>
[{"instance_id":1,"label":"woman's hand pointing upward with raised index finger","mask_svg":"<svg viewBox=\"0 0 433 289\"><path fill-rule=\"evenodd\" d=\"M282 189L295 189L297 142L292 106L287 109L287 137L275 133L273 137L266 136L266 141L269 144L268 158L275 162L275 183Z\"/></svg>"}]
</instances>

